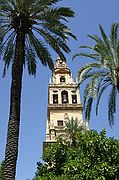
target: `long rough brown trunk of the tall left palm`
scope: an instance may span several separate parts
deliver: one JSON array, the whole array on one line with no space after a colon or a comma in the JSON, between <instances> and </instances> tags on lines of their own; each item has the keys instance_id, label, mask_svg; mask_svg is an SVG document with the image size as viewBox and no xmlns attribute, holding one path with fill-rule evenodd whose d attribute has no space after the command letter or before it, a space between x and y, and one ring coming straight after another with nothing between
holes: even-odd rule
<instances>
[{"instance_id":1,"label":"long rough brown trunk of the tall left palm","mask_svg":"<svg viewBox=\"0 0 119 180\"><path fill-rule=\"evenodd\" d=\"M17 32L15 57L12 65L12 83L10 94L10 115L5 151L4 180L14 180L18 157L18 140L20 128L20 104L22 90L23 62L25 56L25 35Z\"/></svg>"}]
</instances>

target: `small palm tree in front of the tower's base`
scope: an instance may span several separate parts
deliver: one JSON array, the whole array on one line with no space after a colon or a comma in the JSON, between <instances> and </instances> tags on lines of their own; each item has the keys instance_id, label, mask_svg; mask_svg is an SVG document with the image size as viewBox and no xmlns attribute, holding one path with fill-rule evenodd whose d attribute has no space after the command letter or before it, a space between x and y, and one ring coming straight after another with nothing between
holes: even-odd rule
<instances>
[{"instance_id":1,"label":"small palm tree in front of the tower's base","mask_svg":"<svg viewBox=\"0 0 119 180\"><path fill-rule=\"evenodd\" d=\"M79 131L86 130L83 123L79 122L78 118L68 119L65 121L65 137L69 140L70 146L76 146L76 135Z\"/></svg>"}]
</instances>

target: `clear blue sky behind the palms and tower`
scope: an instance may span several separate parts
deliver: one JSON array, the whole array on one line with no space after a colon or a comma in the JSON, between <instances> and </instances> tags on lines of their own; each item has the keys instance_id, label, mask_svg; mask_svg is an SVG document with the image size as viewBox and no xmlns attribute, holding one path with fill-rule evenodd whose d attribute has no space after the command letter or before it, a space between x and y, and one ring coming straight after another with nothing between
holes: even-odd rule
<instances>
[{"instance_id":1,"label":"clear blue sky behind the palms and tower","mask_svg":"<svg viewBox=\"0 0 119 180\"><path fill-rule=\"evenodd\" d=\"M109 34L110 26L113 22L119 22L119 1L118 0L63 0L62 6L71 7L76 12L76 17L69 20L69 27L77 35L78 41L70 40L69 46L72 52L67 57L67 63L76 77L77 71L89 59L77 58L72 62L74 53L79 52L80 45L89 45L91 41L87 34L99 35L101 24L105 32ZM52 53L55 59L57 55ZM0 69L3 65L0 62ZM21 127L19 140L19 157L17 162L16 180L30 180L36 170L36 162L42 157L42 142L45 140L45 123L47 117L47 93L51 71L38 63L37 76L34 79L29 77L24 71L22 102L21 102ZM0 161L4 159L5 141L7 133L7 122L9 117L9 93L10 93L11 73L8 71L6 77L2 78L0 71ZM83 92L81 87L81 97ZM90 128L98 132L102 128L107 131L107 136L119 138L119 112L115 117L113 129L109 127L107 120L108 91L105 92L99 115L96 117L92 111Z\"/></svg>"}]
</instances>

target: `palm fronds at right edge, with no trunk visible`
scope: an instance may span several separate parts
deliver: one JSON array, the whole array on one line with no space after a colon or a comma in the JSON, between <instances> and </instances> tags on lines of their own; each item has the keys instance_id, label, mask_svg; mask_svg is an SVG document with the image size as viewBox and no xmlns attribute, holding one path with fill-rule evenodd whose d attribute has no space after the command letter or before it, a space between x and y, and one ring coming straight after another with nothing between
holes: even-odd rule
<instances>
[{"instance_id":1,"label":"palm fronds at right edge, with no trunk visible","mask_svg":"<svg viewBox=\"0 0 119 180\"><path fill-rule=\"evenodd\" d=\"M108 120L112 127L114 125L114 114L116 113L116 97L119 93L119 24L114 23L111 26L111 33L107 37L104 29L99 25L101 37L96 35L88 35L94 40L94 46L81 46L90 50L89 53L81 52L75 54L84 56L94 60L79 69L79 84L87 80L87 85L83 94L83 105L85 111L85 119L89 121L93 100L96 98L96 114L98 114L98 106L103 92L110 89L108 101Z\"/></svg>"}]
</instances>

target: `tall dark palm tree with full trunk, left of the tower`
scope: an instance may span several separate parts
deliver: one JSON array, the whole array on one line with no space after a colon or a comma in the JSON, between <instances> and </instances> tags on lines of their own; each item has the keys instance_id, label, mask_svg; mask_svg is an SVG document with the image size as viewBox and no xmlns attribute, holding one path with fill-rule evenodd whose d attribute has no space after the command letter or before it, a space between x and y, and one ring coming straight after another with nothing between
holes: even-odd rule
<instances>
[{"instance_id":1,"label":"tall dark palm tree with full trunk, left of the tower","mask_svg":"<svg viewBox=\"0 0 119 180\"><path fill-rule=\"evenodd\" d=\"M5 151L5 180L14 180L18 156L20 127L20 102L22 76L25 65L30 75L36 74L39 59L53 70L50 46L60 58L70 52L66 44L68 36L75 38L67 27L67 18L74 12L67 7L56 7L60 0L3 0L0 19L2 57L5 62L3 75L12 65L10 114ZM76 39L76 38L75 38Z\"/></svg>"}]
</instances>

